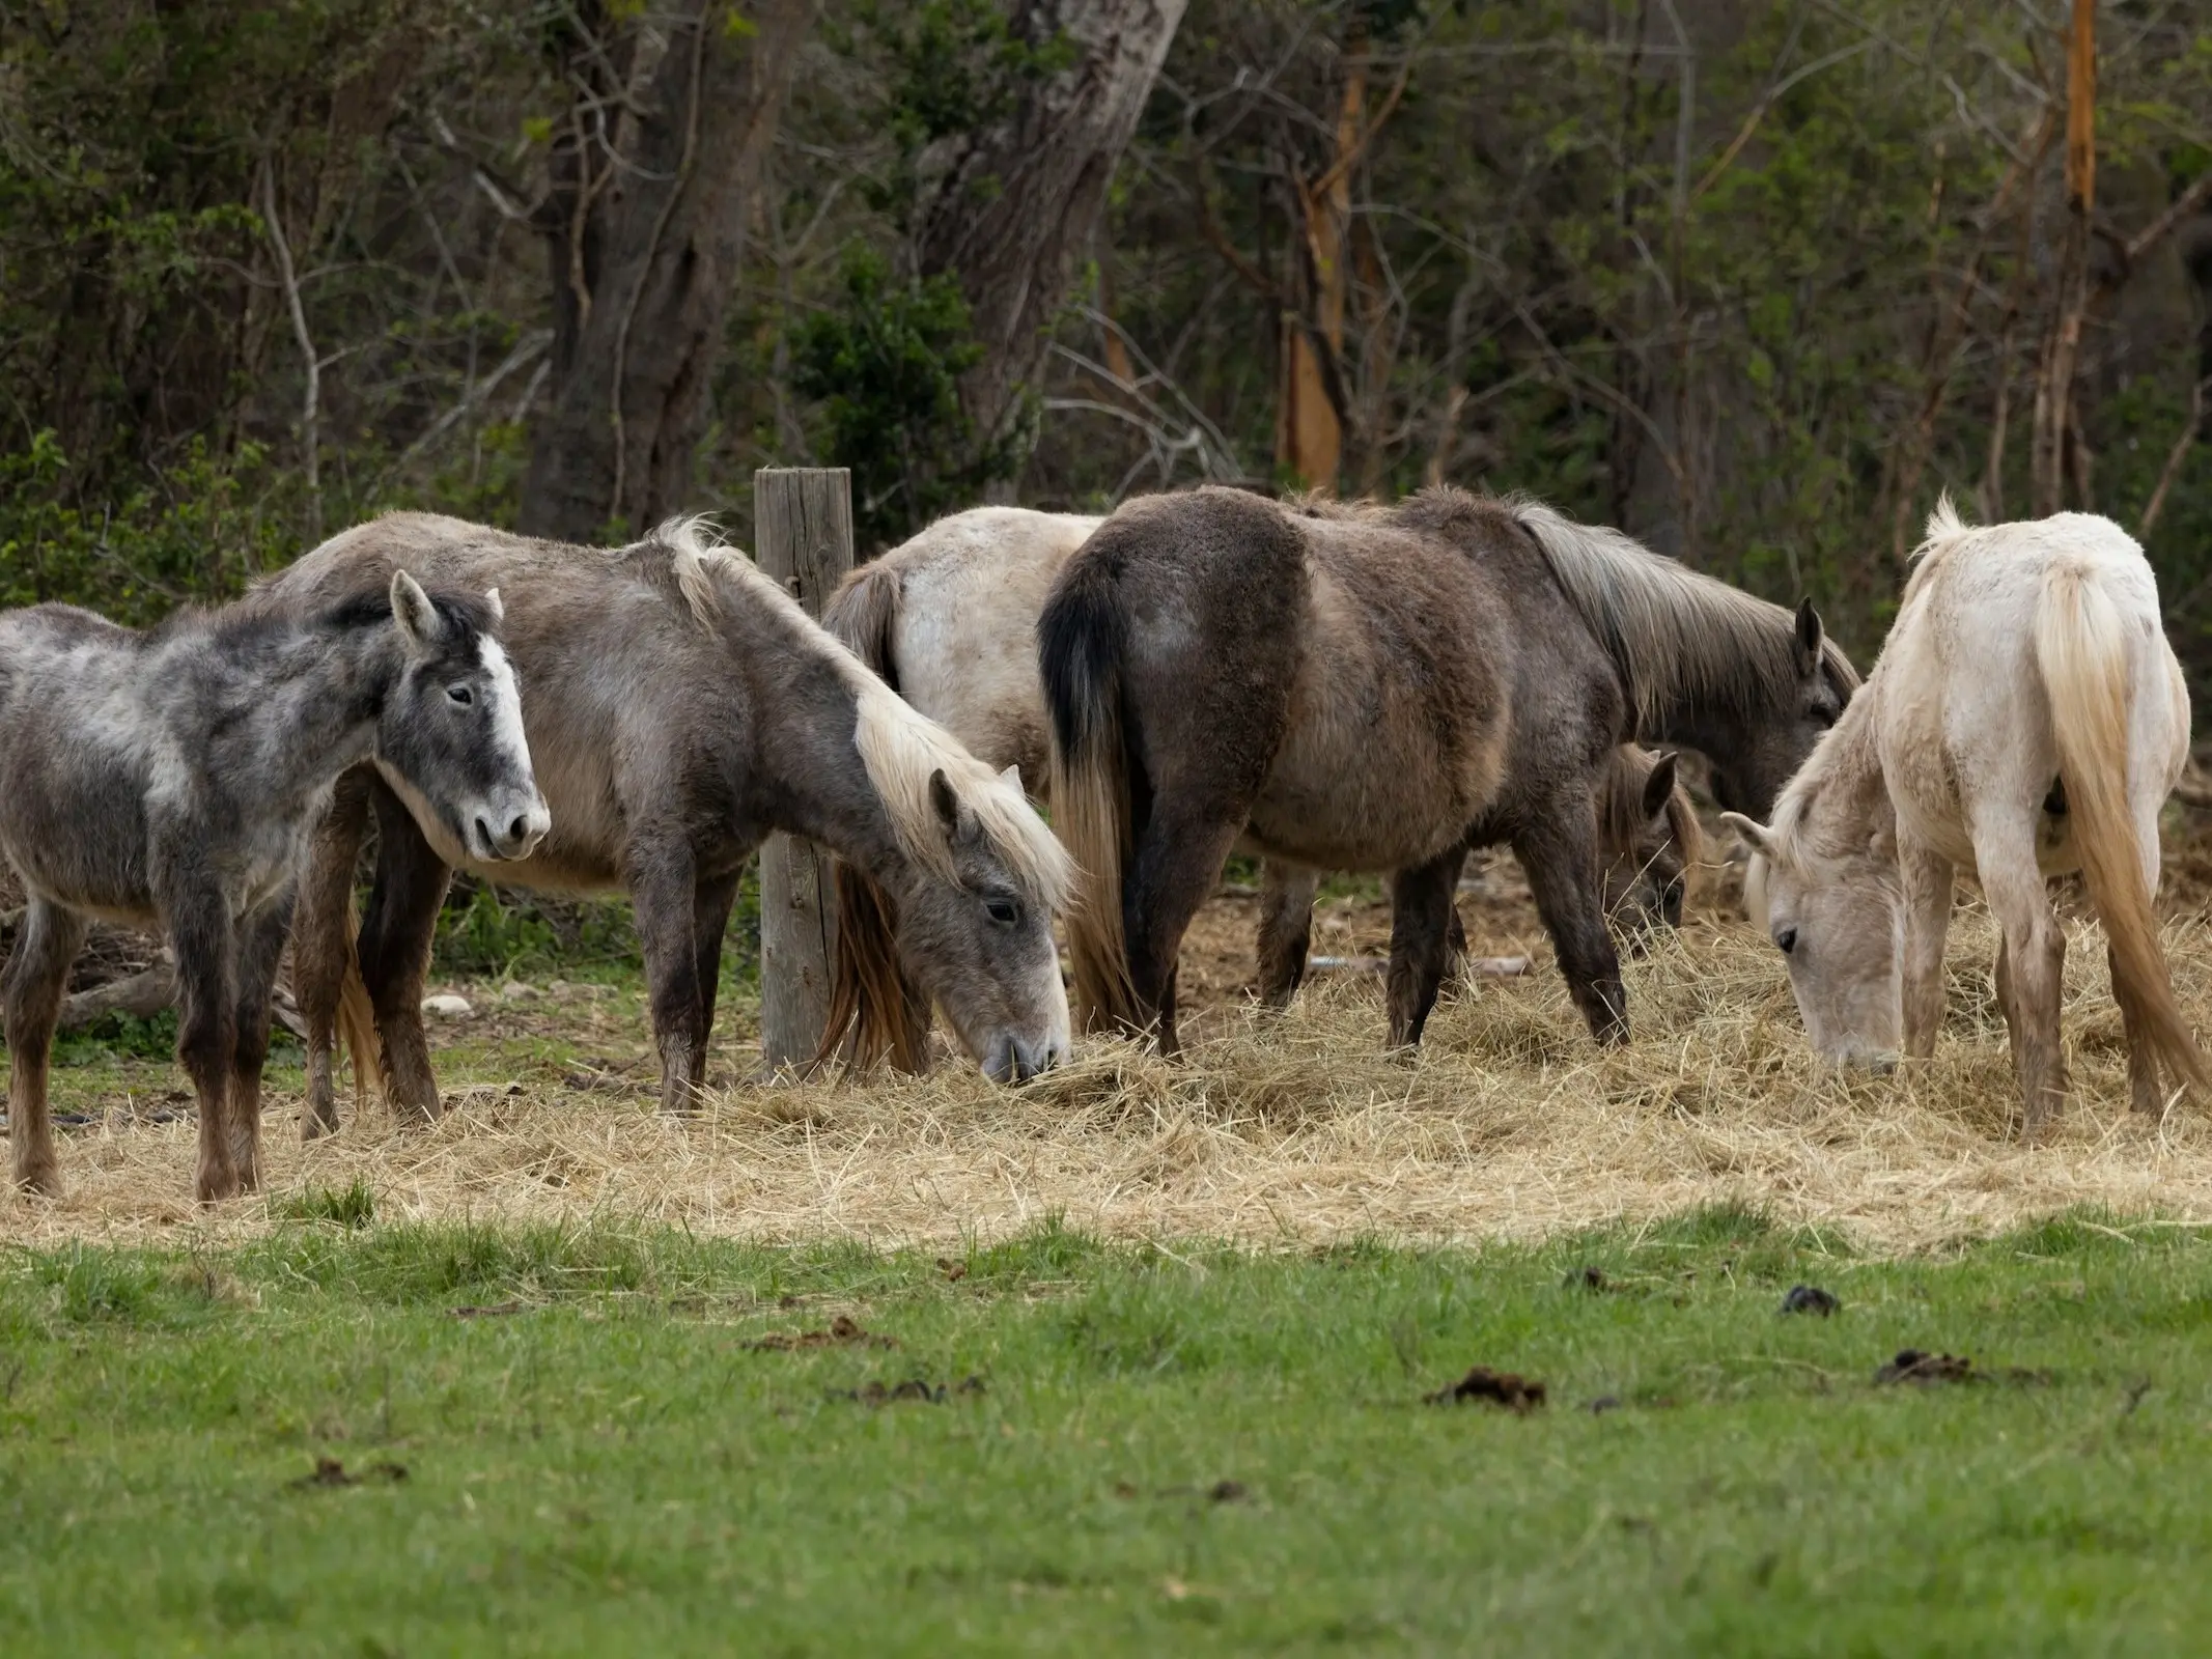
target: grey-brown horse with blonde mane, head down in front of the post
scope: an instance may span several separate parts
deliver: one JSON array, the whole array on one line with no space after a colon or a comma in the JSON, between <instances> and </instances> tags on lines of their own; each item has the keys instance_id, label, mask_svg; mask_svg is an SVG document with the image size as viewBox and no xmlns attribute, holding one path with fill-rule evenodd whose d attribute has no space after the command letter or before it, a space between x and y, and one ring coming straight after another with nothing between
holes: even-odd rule
<instances>
[{"instance_id":1,"label":"grey-brown horse with blonde mane, head down in front of the post","mask_svg":"<svg viewBox=\"0 0 2212 1659\"><path fill-rule=\"evenodd\" d=\"M274 588L312 595L398 562L507 582L515 595L507 644L531 688L524 723L553 834L487 874L630 894L664 1110L686 1110L706 1082L723 927L745 858L774 830L869 876L900 922L907 978L945 1006L993 1079L1020 1082L1066 1055L1051 922L1068 858L1020 781L900 701L699 520L602 551L392 513L307 553ZM383 1033L387 1093L407 1113L438 1113L422 975L449 874L478 860L414 807L358 772L316 838L294 938L310 1135L336 1128L332 1024L356 962L349 896L372 810L376 885L358 975ZM845 982L818 1057L847 1029L872 1044L902 1018L872 989Z\"/></svg>"}]
</instances>

